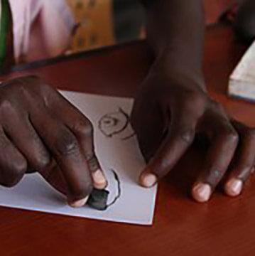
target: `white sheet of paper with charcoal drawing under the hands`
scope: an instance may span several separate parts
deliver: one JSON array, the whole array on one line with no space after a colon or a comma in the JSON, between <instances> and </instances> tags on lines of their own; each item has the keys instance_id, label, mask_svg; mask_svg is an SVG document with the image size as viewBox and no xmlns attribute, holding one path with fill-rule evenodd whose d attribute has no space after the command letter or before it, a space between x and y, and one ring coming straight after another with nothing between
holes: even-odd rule
<instances>
[{"instance_id":1,"label":"white sheet of paper with charcoal drawing under the hands","mask_svg":"<svg viewBox=\"0 0 255 256\"><path fill-rule=\"evenodd\" d=\"M94 125L95 149L109 181L107 187L107 190L110 191L109 202L114 199L117 191L117 183L111 169L114 169L119 176L121 184L119 200L104 211L94 210L88 206L70 208L66 205L65 198L51 188L39 174L28 174L13 188L0 187L0 205L47 213L151 225L157 188L147 189L138 185L137 180L145 163L136 137L132 136L134 132L130 124L124 125L126 124L124 112L127 114L131 112L133 100L87 95L80 92L61 93L89 117ZM109 116L109 113L112 114ZM99 129L100 119L103 133ZM118 120L117 124L112 122L116 119ZM114 129L112 124L114 124ZM119 132L122 129L124 130Z\"/></svg>"}]
</instances>

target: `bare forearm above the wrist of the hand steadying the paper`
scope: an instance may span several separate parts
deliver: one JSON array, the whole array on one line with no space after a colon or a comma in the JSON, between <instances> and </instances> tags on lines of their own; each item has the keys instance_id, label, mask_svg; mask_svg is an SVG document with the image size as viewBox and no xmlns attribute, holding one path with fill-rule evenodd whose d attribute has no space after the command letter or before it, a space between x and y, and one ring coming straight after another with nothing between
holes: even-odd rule
<instances>
[{"instance_id":1,"label":"bare forearm above the wrist of the hand steadying the paper","mask_svg":"<svg viewBox=\"0 0 255 256\"><path fill-rule=\"evenodd\" d=\"M148 43L166 73L202 78L204 12L201 0L143 0Z\"/></svg>"}]
</instances>

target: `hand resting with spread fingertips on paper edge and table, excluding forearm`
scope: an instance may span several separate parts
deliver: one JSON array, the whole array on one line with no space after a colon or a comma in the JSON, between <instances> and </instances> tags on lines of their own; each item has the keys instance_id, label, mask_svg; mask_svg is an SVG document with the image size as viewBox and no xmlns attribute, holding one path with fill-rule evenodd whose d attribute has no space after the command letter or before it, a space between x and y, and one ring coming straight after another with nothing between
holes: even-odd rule
<instances>
[{"instance_id":1,"label":"hand resting with spread fingertips on paper edge and table, excluding forearm","mask_svg":"<svg viewBox=\"0 0 255 256\"><path fill-rule=\"evenodd\" d=\"M168 174L199 134L209 139L210 147L192 186L196 201L208 201L224 176L227 195L239 195L254 171L255 130L229 119L199 82L188 77L148 75L136 97L131 123L148 161L140 176L142 186L151 187Z\"/></svg>"}]
</instances>

